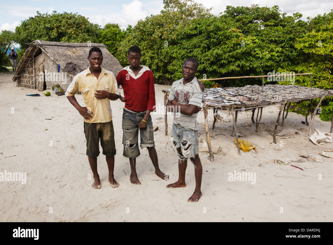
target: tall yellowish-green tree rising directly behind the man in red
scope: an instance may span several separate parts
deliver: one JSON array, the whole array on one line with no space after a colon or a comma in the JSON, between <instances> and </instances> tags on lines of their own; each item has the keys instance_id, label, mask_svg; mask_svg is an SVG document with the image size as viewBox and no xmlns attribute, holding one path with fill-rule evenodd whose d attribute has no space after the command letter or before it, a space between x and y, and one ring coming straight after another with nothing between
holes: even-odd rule
<instances>
[{"instance_id":1,"label":"tall yellowish-green tree rising directly behind the man in red","mask_svg":"<svg viewBox=\"0 0 333 245\"><path fill-rule=\"evenodd\" d=\"M132 29L128 28L125 38L119 45L116 57L123 66L128 65L127 51L131 46L141 48L142 64L154 72L158 80L167 78L168 64L172 61L163 51L166 47L177 45L176 30L184 28L192 19L212 16L210 9L194 1L164 1L165 7L158 15L151 15L138 21Z\"/></svg>"}]
</instances>

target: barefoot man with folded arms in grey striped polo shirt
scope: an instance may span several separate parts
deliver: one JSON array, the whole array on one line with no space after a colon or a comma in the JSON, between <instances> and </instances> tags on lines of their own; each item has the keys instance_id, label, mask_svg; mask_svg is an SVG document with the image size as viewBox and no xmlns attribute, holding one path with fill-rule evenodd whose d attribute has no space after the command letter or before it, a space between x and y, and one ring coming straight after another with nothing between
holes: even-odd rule
<instances>
[{"instance_id":1,"label":"barefoot man with folded arms in grey striped polo shirt","mask_svg":"<svg viewBox=\"0 0 333 245\"><path fill-rule=\"evenodd\" d=\"M167 101L167 110L180 115L173 116L171 132L172 148L177 154L178 181L169 184L166 188L185 187L185 171L187 159L194 165L195 190L187 199L188 202L197 202L201 197L202 166L199 158L198 123L196 117L200 111L204 86L194 76L197 73L198 62L194 58L185 60L182 66L183 78L172 83ZM179 110L177 110L179 108Z\"/></svg>"}]
</instances>

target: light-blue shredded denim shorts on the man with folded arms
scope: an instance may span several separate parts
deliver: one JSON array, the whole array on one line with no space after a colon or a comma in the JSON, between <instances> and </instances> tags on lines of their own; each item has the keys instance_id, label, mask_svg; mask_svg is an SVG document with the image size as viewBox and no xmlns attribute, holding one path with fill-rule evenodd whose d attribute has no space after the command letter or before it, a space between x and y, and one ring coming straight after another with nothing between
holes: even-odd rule
<instances>
[{"instance_id":1,"label":"light-blue shredded denim shorts on the man with folded arms","mask_svg":"<svg viewBox=\"0 0 333 245\"><path fill-rule=\"evenodd\" d=\"M196 154L199 154L198 130L184 128L180 124L173 124L170 140L172 140L172 149L180 161L194 158ZM179 147L181 147L182 155L177 151Z\"/></svg>"}]
</instances>

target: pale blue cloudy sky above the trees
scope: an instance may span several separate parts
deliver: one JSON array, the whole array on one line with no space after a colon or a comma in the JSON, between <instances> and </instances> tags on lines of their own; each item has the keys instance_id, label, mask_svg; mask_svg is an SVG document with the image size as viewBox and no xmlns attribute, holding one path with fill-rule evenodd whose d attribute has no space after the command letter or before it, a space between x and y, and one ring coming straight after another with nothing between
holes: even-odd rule
<instances>
[{"instance_id":1,"label":"pale blue cloudy sky above the trees","mask_svg":"<svg viewBox=\"0 0 333 245\"><path fill-rule=\"evenodd\" d=\"M205 7L213 7L211 13L218 15L225 10L227 5L248 6L259 4L260 7L272 7L278 5L280 9L292 15L300 12L302 19L306 17L315 17L318 14L328 13L333 9L332 0L195 0L202 3ZM34 16L36 11L41 13L50 13L52 11L79 13L95 24L102 27L107 23L118 23L125 29L127 25L134 26L138 20L145 19L149 15L158 14L163 9L163 0L99 0L99 1L46 1L46 0L16 0L6 1L0 6L0 31L15 31L15 27L21 24L21 21Z\"/></svg>"}]
</instances>

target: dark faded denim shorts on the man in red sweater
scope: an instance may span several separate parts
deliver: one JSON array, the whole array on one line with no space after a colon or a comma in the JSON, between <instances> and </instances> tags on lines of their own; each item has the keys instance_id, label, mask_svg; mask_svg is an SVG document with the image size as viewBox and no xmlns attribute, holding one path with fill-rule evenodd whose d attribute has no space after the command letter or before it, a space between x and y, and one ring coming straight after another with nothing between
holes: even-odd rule
<instances>
[{"instance_id":1,"label":"dark faded denim shorts on the man in red sweater","mask_svg":"<svg viewBox=\"0 0 333 245\"><path fill-rule=\"evenodd\" d=\"M145 117L146 112L134 112L124 108L123 111L123 155L128 158L136 158L140 156L138 145L139 123ZM130 147L132 146L132 147ZM145 129L140 129L140 147L154 147L154 132L152 117L149 115L147 126Z\"/></svg>"}]
</instances>

